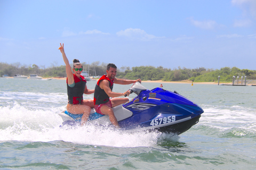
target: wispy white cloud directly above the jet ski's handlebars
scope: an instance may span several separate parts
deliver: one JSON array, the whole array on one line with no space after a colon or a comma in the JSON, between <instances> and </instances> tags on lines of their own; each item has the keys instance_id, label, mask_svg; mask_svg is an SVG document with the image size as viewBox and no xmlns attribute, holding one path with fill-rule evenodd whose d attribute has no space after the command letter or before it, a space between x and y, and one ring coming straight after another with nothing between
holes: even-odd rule
<instances>
[{"instance_id":1,"label":"wispy white cloud directly above the jet ski's handlebars","mask_svg":"<svg viewBox=\"0 0 256 170\"><path fill-rule=\"evenodd\" d=\"M156 37L154 35L149 35L146 31L138 29L138 28L128 28L116 33L117 36L129 37L132 39L140 39L140 40L150 40L164 37Z\"/></svg>"}]
</instances>

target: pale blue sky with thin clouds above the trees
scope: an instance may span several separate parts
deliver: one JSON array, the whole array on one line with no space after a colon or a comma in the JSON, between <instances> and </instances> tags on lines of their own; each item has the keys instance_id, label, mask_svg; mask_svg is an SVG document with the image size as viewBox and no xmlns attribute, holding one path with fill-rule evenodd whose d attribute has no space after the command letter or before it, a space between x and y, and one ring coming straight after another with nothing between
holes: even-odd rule
<instances>
[{"instance_id":1,"label":"pale blue sky with thin clouds above the trees","mask_svg":"<svg viewBox=\"0 0 256 170\"><path fill-rule=\"evenodd\" d=\"M0 0L0 62L256 70L255 0Z\"/></svg>"}]
</instances>

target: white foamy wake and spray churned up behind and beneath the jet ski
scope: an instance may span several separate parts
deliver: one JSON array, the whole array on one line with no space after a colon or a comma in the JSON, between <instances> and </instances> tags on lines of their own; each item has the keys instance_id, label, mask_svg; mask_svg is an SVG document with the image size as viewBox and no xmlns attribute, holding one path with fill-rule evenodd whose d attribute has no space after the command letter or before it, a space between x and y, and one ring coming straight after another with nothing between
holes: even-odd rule
<instances>
[{"instance_id":1,"label":"white foamy wake and spray churned up behind and beneath the jet ski","mask_svg":"<svg viewBox=\"0 0 256 170\"><path fill-rule=\"evenodd\" d=\"M1 141L66 141L82 145L151 147L157 144L162 134L159 132L128 133L91 124L77 128L60 128L62 119L58 113L63 109L65 106L31 110L18 103L13 107L0 107Z\"/></svg>"}]
</instances>

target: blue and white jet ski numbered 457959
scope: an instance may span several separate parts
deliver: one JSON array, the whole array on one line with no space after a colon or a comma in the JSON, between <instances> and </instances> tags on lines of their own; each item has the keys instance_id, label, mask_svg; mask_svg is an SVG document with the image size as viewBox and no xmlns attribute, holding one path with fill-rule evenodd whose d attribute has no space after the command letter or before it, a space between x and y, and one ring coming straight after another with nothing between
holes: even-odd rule
<instances>
[{"instance_id":1,"label":"blue and white jet ski numbered 457959","mask_svg":"<svg viewBox=\"0 0 256 170\"><path fill-rule=\"evenodd\" d=\"M203 109L178 92L154 88L148 90L135 82L129 89L136 97L125 104L113 107L119 126L125 131L159 131L174 134L186 132L195 125ZM83 114L67 111L59 113L65 125L79 125ZM91 109L87 123L111 126L108 115L101 115Z\"/></svg>"}]
</instances>

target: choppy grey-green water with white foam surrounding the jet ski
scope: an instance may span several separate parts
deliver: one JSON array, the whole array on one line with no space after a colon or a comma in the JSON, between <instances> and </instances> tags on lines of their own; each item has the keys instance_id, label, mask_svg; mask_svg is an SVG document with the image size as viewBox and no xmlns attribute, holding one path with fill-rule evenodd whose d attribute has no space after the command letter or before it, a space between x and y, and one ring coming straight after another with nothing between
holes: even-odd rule
<instances>
[{"instance_id":1,"label":"choppy grey-green water with white foam surrounding the jet ski","mask_svg":"<svg viewBox=\"0 0 256 170\"><path fill-rule=\"evenodd\" d=\"M0 169L256 169L256 87L162 84L204 109L185 133L61 129L66 80L0 78Z\"/></svg>"}]
</instances>

